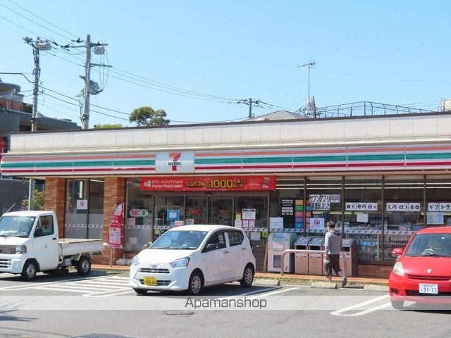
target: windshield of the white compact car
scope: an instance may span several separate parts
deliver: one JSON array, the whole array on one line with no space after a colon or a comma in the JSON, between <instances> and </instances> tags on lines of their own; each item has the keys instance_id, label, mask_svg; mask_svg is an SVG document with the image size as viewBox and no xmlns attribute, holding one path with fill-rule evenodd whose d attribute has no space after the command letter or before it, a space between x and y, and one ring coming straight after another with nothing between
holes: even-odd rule
<instances>
[{"instance_id":1,"label":"windshield of the white compact car","mask_svg":"<svg viewBox=\"0 0 451 338\"><path fill-rule=\"evenodd\" d=\"M171 230L161 235L149 249L194 250L199 247L206 234L206 231Z\"/></svg>"}]
</instances>

